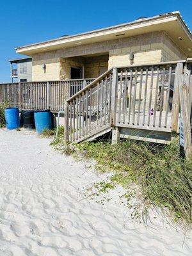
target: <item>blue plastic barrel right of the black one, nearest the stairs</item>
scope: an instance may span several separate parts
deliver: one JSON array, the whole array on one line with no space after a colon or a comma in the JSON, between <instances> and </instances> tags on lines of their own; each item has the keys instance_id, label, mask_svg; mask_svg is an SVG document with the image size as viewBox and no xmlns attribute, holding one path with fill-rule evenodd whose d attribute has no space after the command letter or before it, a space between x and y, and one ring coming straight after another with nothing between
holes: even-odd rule
<instances>
[{"instance_id":1,"label":"blue plastic barrel right of the black one, nearest the stairs","mask_svg":"<svg viewBox=\"0 0 192 256\"><path fill-rule=\"evenodd\" d=\"M52 119L49 111L37 111L34 113L34 117L38 134L41 134L45 129L52 129Z\"/></svg>"}]
</instances>

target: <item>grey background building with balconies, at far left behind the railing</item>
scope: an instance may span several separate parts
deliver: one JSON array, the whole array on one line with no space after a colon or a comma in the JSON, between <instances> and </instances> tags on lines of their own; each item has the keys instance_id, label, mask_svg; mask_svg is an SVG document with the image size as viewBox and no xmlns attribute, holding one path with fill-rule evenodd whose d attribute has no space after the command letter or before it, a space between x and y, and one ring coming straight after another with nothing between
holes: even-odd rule
<instances>
[{"instance_id":1,"label":"grey background building with balconies, at far left behind the railing","mask_svg":"<svg viewBox=\"0 0 192 256\"><path fill-rule=\"evenodd\" d=\"M10 62L12 83L13 79L17 79L19 82L32 81L32 58L20 58L8 61Z\"/></svg>"}]
</instances>

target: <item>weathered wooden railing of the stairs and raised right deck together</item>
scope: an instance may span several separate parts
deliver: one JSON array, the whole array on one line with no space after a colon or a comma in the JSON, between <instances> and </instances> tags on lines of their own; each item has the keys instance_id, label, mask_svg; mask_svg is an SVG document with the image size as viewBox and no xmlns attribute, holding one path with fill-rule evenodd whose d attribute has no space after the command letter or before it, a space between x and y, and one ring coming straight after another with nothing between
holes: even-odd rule
<instances>
[{"instance_id":1,"label":"weathered wooden railing of the stairs and raised right deck together","mask_svg":"<svg viewBox=\"0 0 192 256\"><path fill-rule=\"evenodd\" d=\"M188 65L173 61L108 70L65 103L65 142L113 127L177 131L179 79L185 68L191 70Z\"/></svg>"}]
</instances>

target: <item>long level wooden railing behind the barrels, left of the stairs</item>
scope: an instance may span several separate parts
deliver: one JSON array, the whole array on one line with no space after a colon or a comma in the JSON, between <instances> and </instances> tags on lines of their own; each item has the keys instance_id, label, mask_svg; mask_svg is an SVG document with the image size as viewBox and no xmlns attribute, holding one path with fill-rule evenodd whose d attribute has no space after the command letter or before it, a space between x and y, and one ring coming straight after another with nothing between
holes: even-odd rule
<instances>
[{"instance_id":1,"label":"long level wooden railing behind the barrels, left of the stairs","mask_svg":"<svg viewBox=\"0 0 192 256\"><path fill-rule=\"evenodd\" d=\"M0 104L21 109L63 110L64 102L94 79L0 84Z\"/></svg>"}]
</instances>

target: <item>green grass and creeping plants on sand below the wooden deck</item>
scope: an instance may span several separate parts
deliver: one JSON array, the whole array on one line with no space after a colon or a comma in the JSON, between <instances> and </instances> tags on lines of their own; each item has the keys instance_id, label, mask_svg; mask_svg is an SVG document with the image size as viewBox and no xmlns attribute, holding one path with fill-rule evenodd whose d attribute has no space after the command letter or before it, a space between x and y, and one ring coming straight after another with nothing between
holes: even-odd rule
<instances>
[{"instance_id":1,"label":"green grass and creeping plants on sand below the wooden deck","mask_svg":"<svg viewBox=\"0 0 192 256\"><path fill-rule=\"evenodd\" d=\"M155 207L183 228L191 228L192 159L185 161L180 157L178 138L170 145L125 140L117 145L92 142L74 147L60 144L59 148L67 154L93 158L98 170L112 172L106 182L93 185L91 190L96 191L92 195L106 193L120 184L127 190L127 207L131 208L131 198L136 198L133 218L142 216L147 220L148 210Z\"/></svg>"}]
</instances>

